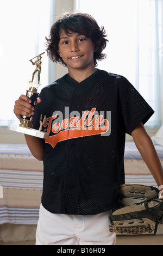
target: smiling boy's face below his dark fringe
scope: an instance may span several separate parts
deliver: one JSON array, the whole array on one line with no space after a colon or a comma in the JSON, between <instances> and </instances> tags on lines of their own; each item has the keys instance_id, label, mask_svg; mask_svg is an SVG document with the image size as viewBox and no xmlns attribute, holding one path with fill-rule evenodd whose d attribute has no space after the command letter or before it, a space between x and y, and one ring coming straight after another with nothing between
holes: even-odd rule
<instances>
[{"instance_id":1,"label":"smiling boy's face below his dark fringe","mask_svg":"<svg viewBox=\"0 0 163 256\"><path fill-rule=\"evenodd\" d=\"M60 41L58 45L58 54L67 64L68 71L76 69L93 69L93 53L95 46L90 38L78 33L66 34L64 31L60 33Z\"/></svg>"}]
</instances>

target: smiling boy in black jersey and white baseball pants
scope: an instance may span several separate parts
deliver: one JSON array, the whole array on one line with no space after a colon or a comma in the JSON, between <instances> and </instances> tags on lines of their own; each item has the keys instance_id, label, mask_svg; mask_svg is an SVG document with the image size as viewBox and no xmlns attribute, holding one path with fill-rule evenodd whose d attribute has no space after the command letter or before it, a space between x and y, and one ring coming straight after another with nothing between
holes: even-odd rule
<instances>
[{"instance_id":1,"label":"smiling boy in black jersey and white baseball pants","mask_svg":"<svg viewBox=\"0 0 163 256\"><path fill-rule=\"evenodd\" d=\"M161 163L143 127L153 109L126 78L96 68L105 57L105 37L90 15L59 17L46 38L47 53L68 74L41 90L35 114L26 96L15 104L17 118L34 114L35 129L40 114L47 117L45 141L25 135L44 166L36 245L115 245L108 216L124 183L126 132L158 186L163 184Z\"/></svg>"}]
</instances>

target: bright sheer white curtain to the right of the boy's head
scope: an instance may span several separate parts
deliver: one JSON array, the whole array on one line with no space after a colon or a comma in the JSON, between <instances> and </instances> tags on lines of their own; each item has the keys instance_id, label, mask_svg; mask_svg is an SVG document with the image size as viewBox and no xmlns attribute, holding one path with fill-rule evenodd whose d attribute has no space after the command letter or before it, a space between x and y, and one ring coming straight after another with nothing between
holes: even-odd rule
<instances>
[{"instance_id":1,"label":"bright sheer white curtain to the right of the boy's head","mask_svg":"<svg viewBox=\"0 0 163 256\"><path fill-rule=\"evenodd\" d=\"M162 0L77 0L108 34L107 58L98 68L128 78L154 109L146 127L161 125Z\"/></svg>"}]
</instances>

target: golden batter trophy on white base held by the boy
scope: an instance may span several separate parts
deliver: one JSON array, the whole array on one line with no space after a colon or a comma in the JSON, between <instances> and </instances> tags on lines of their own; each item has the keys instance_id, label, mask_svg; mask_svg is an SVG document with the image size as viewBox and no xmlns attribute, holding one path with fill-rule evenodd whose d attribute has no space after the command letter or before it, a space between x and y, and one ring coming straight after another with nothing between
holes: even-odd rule
<instances>
[{"instance_id":1,"label":"golden batter trophy on white base held by the boy","mask_svg":"<svg viewBox=\"0 0 163 256\"><path fill-rule=\"evenodd\" d=\"M37 92L37 88L39 88L39 86L41 86L40 84L40 73L41 73L41 55L44 54L45 52L42 52L41 54L37 55L36 57L34 57L33 59L37 58L35 60L35 62L33 62L33 59L30 59L29 61L32 62L33 65L36 65L36 69L34 70L33 74L32 74L32 81L29 82L29 90L27 90L26 96L29 97L29 99L32 101L30 104L35 107L36 106L36 102L37 102L37 96L38 96L38 92ZM34 83L34 77L35 74L37 73L37 77L38 77L38 83ZM31 115L30 117L26 117L26 115L22 115L20 120L21 120L21 124L20 125L14 125L11 124L10 125L10 130L12 131L17 131L17 132L22 132L31 136L35 136L35 137L39 137L39 138L47 138L49 133L47 132L43 132L42 131L42 125L45 123L46 121L46 115L42 120L42 114L40 116L40 128L39 130L35 130L29 127L29 122L31 122L33 119L33 116Z\"/></svg>"}]
</instances>

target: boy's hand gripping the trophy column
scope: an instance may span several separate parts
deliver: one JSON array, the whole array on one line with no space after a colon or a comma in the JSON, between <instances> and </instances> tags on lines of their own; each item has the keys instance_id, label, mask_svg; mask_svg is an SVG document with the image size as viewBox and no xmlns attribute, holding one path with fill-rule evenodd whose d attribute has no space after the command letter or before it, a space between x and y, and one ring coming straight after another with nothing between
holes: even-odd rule
<instances>
[{"instance_id":1,"label":"boy's hand gripping the trophy column","mask_svg":"<svg viewBox=\"0 0 163 256\"><path fill-rule=\"evenodd\" d=\"M41 99L37 98L37 104L41 102ZM30 115L34 115L34 107L30 105L31 100L26 95L21 95L18 100L15 101L14 106L14 114L18 119L21 118L21 115L26 115L26 117L30 117ZM37 105L36 104L36 105Z\"/></svg>"}]
</instances>

